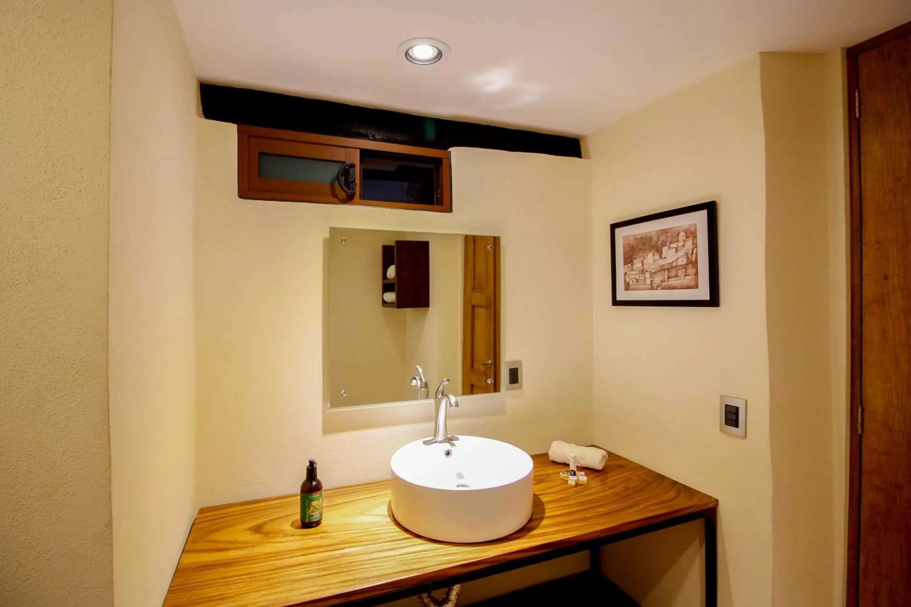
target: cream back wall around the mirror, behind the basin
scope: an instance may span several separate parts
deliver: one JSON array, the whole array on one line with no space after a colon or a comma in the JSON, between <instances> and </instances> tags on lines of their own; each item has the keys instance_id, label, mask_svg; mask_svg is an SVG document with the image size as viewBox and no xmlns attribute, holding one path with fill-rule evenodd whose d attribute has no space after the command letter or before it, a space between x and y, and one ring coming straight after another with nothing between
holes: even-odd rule
<instances>
[{"instance_id":1,"label":"cream back wall around the mirror, behind the basin","mask_svg":"<svg viewBox=\"0 0 911 607\"><path fill-rule=\"evenodd\" d=\"M455 149L452 214L241 200L236 127L197 127L200 505L296 491L311 457L329 487L386 478L432 433L432 401L324 410L330 226L500 235L503 357L524 361L525 388L462 398L450 428L529 452L591 440L588 161Z\"/></svg>"}]
</instances>

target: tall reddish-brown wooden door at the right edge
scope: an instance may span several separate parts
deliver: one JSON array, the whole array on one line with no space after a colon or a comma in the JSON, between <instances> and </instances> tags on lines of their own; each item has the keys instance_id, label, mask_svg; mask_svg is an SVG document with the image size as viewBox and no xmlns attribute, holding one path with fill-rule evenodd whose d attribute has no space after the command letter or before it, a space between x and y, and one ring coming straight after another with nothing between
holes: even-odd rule
<instances>
[{"instance_id":1,"label":"tall reddish-brown wooden door at the right edge","mask_svg":"<svg viewBox=\"0 0 911 607\"><path fill-rule=\"evenodd\" d=\"M852 379L856 537L849 553L856 583L849 580L855 593L849 604L860 607L911 605L911 28L906 30L849 54L857 91L851 108L852 340L859 358Z\"/></svg>"}]
</instances>

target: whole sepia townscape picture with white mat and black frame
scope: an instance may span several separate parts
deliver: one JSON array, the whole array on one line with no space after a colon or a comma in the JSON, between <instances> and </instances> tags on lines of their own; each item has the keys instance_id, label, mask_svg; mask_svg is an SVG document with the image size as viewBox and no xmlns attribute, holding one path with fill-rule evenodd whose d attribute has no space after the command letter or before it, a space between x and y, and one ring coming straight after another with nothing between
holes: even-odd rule
<instances>
[{"instance_id":1,"label":"whole sepia townscape picture with white mat and black frame","mask_svg":"<svg viewBox=\"0 0 911 607\"><path fill-rule=\"evenodd\" d=\"M615 306L717 308L715 201L610 224Z\"/></svg>"}]
</instances>

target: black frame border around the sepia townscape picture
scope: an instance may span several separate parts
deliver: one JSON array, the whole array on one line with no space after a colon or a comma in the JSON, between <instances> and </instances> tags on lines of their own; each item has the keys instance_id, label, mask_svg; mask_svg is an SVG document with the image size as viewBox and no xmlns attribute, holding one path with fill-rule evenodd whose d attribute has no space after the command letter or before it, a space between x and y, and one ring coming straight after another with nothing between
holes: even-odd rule
<instances>
[{"instance_id":1,"label":"black frame border around the sepia townscape picture","mask_svg":"<svg viewBox=\"0 0 911 607\"><path fill-rule=\"evenodd\" d=\"M672 208L660 213L652 213L640 218L627 219L610 224L610 298L614 306L675 306L685 308L718 308L721 306L718 280L718 219L717 201L710 200L688 207ZM658 219L673 218L695 212L706 213L706 231L708 237L709 296L704 299L618 299L617 298L617 229L638 224L646 224ZM701 244L699 245L701 246ZM701 269L701 268L700 268ZM700 275L701 276L701 275ZM667 292L665 290L664 292Z\"/></svg>"}]
</instances>

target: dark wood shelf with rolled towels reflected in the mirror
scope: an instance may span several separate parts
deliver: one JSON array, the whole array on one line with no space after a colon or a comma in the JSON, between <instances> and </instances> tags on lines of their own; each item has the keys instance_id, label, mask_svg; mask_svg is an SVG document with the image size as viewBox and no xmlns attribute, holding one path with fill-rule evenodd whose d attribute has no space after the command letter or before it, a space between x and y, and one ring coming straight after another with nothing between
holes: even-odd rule
<instances>
[{"instance_id":1,"label":"dark wood shelf with rolled towels reflected in the mirror","mask_svg":"<svg viewBox=\"0 0 911 607\"><path fill-rule=\"evenodd\" d=\"M395 278L386 278L391 266ZM396 240L383 245L383 293L394 293L394 303L384 308L430 307L430 243L426 240Z\"/></svg>"}]
</instances>

